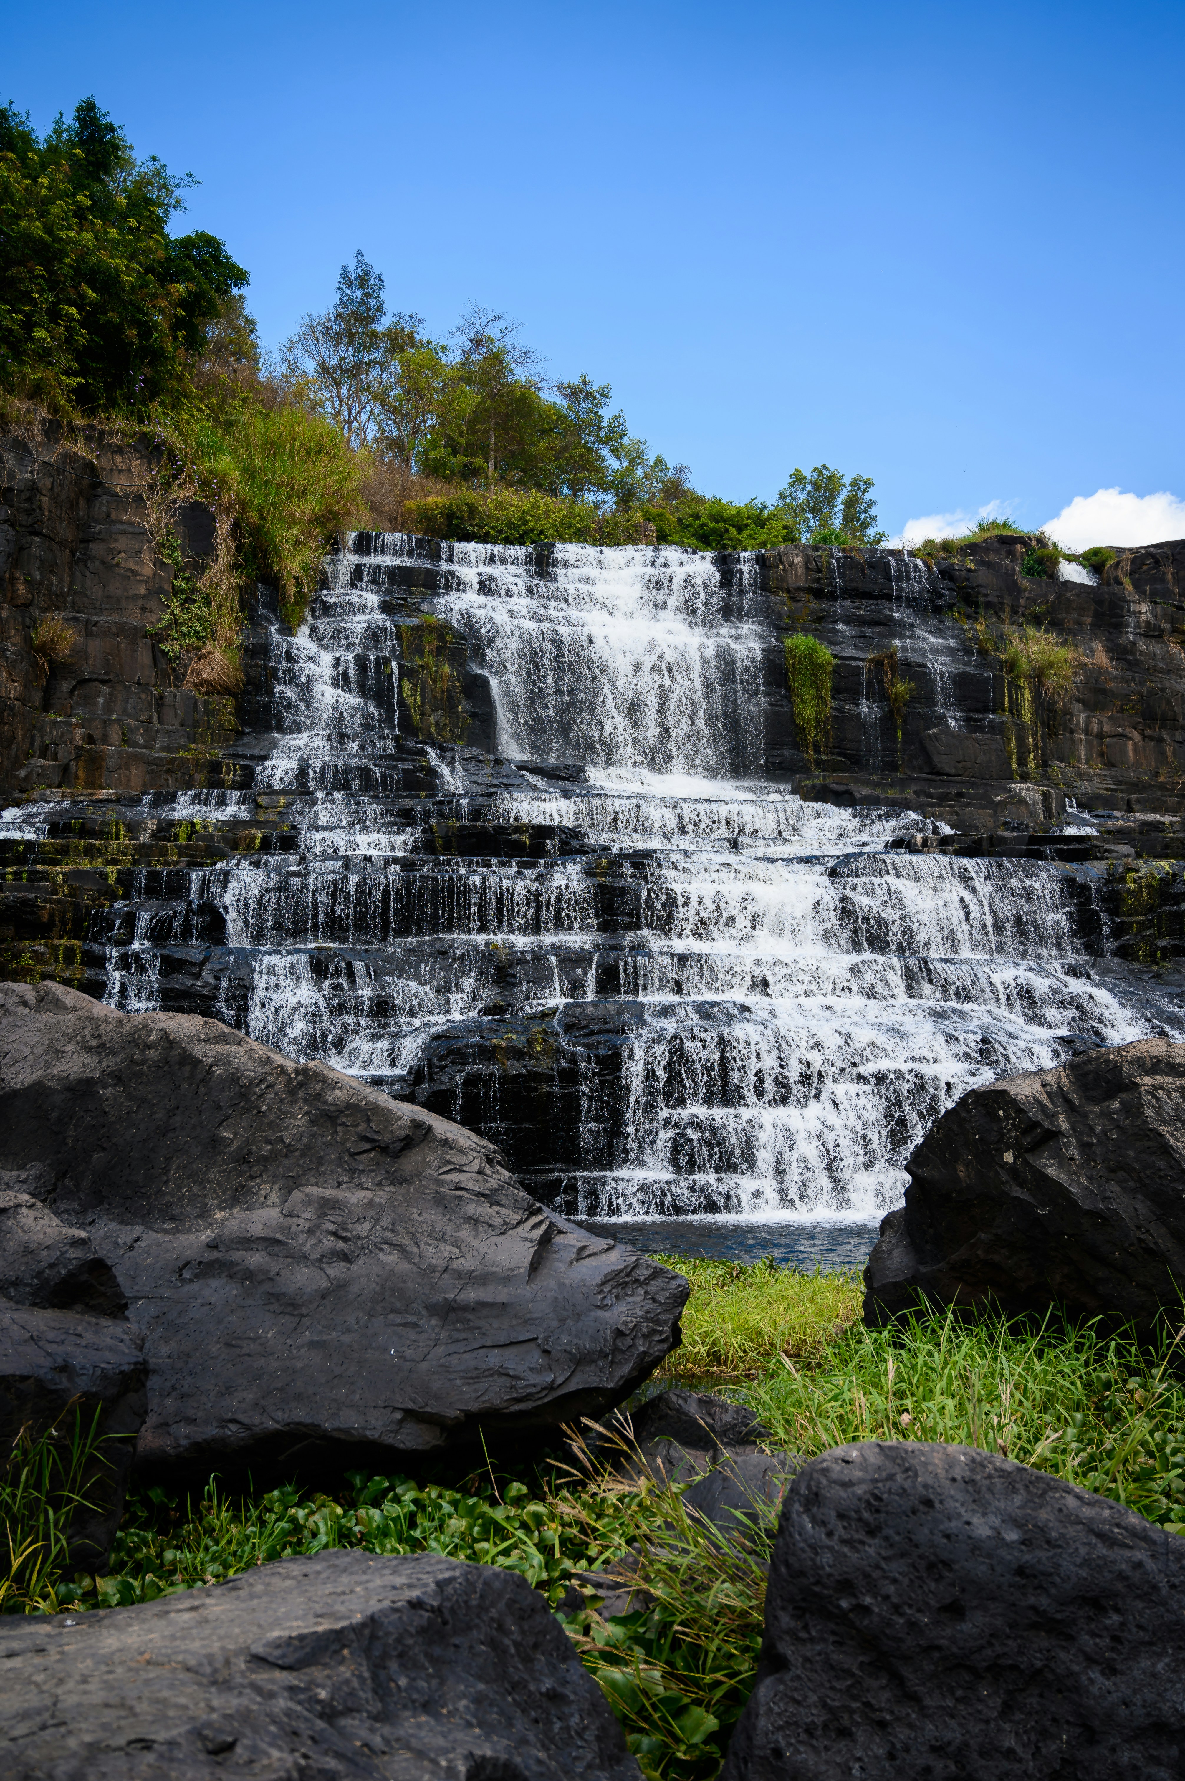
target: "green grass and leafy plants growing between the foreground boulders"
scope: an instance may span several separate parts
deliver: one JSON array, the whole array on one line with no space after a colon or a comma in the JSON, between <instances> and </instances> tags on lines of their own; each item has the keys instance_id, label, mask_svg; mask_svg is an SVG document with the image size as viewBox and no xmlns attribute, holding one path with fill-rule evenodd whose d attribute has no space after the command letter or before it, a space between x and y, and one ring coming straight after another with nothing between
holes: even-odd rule
<instances>
[{"instance_id":1,"label":"green grass and leafy plants growing between the foreground boulders","mask_svg":"<svg viewBox=\"0 0 1185 1781\"><path fill-rule=\"evenodd\" d=\"M1185 1532L1176 1364L1185 1330L1165 1329L1151 1346L1055 1323L968 1329L948 1316L866 1330L850 1273L677 1266L691 1298L682 1348L659 1382L750 1403L779 1446L805 1459L864 1439L978 1446ZM11 1612L151 1601L330 1546L499 1564L552 1608L565 1603L583 1662L659 1781L711 1781L752 1681L773 1526L757 1526L745 1548L722 1549L684 1512L677 1489L634 1489L608 1471L604 1452L556 1450L519 1475L483 1462L447 1484L347 1473L321 1492L287 1485L232 1498L217 1480L200 1498L137 1492L107 1576L68 1576L61 1541L45 1548L32 1478L27 1450L4 1487L9 1555L23 1553L7 1567ZM620 1565L645 1590L645 1606L609 1621L581 1608L574 1573Z\"/></svg>"}]
</instances>

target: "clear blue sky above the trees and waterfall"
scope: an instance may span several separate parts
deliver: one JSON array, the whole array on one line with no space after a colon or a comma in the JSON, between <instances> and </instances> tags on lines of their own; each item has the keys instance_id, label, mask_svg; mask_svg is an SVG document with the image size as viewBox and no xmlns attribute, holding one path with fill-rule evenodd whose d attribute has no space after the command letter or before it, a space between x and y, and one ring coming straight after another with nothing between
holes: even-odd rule
<instances>
[{"instance_id":1,"label":"clear blue sky above the trees and waterfall","mask_svg":"<svg viewBox=\"0 0 1185 1781\"><path fill-rule=\"evenodd\" d=\"M94 93L192 169L269 344L362 248L437 333L517 315L700 488L827 461L898 533L1185 497L1183 50L1180 0L9 0L2 98Z\"/></svg>"}]
</instances>

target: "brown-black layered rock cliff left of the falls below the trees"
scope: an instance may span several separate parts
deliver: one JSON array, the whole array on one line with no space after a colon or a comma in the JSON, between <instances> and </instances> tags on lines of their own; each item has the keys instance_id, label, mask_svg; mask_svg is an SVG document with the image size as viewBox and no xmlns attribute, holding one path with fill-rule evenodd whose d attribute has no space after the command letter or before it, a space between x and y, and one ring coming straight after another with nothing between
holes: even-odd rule
<instances>
[{"instance_id":1,"label":"brown-black layered rock cliff left of the falls below the trees","mask_svg":"<svg viewBox=\"0 0 1185 1781\"><path fill-rule=\"evenodd\" d=\"M39 438L0 440L0 791L144 793L242 785L226 757L233 702L182 686L153 636L175 568L146 529L151 458L96 436L89 456L46 422ZM176 538L208 554L208 513L176 515ZM46 620L73 632L66 659L43 661ZM2 937L2 935L0 935Z\"/></svg>"}]
</instances>

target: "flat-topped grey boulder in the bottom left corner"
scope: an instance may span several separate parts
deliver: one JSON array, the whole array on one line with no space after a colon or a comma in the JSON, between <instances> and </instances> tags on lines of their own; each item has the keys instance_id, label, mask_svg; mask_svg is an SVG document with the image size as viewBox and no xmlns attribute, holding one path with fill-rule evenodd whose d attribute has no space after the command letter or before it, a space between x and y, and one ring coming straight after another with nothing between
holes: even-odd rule
<instances>
[{"instance_id":1,"label":"flat-topped grey boulder in the bottom left corner","mask_svg":"<svg viewBox=\"0 0 1185 1781\"><path fill-rule=\"evenodd\" d=\"M0 1624L9 1781L638 1781L547 1603L454 1558L317 1553Z\"/></svg>"}]
</instances>

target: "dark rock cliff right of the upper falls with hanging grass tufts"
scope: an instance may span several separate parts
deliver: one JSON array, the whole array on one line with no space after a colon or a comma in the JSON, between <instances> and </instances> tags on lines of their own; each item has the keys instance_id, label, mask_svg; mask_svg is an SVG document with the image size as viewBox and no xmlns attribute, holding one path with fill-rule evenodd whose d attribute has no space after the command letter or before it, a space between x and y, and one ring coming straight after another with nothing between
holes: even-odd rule
<instances>
[{"instance_id":1,"label":"dark rock cliff right of the upper falls with hanging grass tufts","mask_svg":"<svg viewBox=\"0 0 1185 1781\"><path fill-rule=\"evenodd\" d=\"M1185 541L1116 552L1098 582L1026 575L1034 543L1005 534L928 559L764 552L772 625L818 636L836 655L830 753L814 769L770 661L766 759L784 762L804 796L866 803L879 787L877 800L946 812L962 830L1050 821L1066 794L1091 809L1181 812ZM1076 652L1067 695L1005 675L1000 641L1025 625ZM895 645L912 684L900 734L882 668Z\"/></svg>"}]
</instances>

